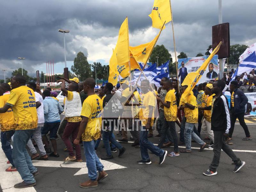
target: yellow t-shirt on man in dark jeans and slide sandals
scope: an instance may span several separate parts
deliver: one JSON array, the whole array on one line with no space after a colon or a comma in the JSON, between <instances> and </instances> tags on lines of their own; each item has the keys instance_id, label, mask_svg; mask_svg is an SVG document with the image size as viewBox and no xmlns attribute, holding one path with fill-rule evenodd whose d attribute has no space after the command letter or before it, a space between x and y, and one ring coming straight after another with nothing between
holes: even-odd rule
<instances>
[{"instance_id":1,"label":"yellow t-shirt on man in dark jeans and slide sandals","mask_svg":"<svg viewBox=\"0 0 256 192\"><path fill-rule=\"evenodd\" d=\"M169 101L170 108L164 107L164 117L166 121L176 121L177 120L177 101L174 94L175 90L170 90L166 93L164 102Z\"/></svg>"}]
</instances>

